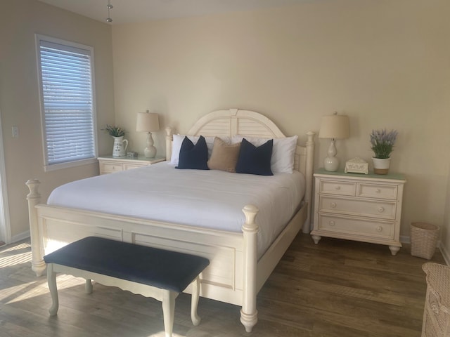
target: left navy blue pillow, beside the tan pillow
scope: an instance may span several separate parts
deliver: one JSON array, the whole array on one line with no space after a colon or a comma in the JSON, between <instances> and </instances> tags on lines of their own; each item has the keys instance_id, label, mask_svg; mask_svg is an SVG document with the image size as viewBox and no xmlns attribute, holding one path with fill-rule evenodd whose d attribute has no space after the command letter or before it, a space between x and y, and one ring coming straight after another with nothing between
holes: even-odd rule
<instances>
[{"instance_id":1,"label":"left navy blue pillow, beside the tan pillow","mask_svg":"<svg viewBox=\"0 0 450 337\"><path fill-rule=\"evenodd\" d=\"M183 143L181 143L178 166L175 169L209 170L207 162L208 148L205 137L200 136L195 145L189 138L184 137Z\"/></svg>"}]
</instances>

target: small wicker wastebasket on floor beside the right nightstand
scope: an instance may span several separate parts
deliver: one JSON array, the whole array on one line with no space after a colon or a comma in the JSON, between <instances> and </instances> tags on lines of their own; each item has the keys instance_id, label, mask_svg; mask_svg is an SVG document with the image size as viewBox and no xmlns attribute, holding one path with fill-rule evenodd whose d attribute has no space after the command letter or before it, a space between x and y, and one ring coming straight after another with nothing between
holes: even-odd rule
<instances>
[{"instance_id":1,"label":"small wicker wastebasket on floor beside the right nightstand","mask_svg":"<svg viewBox=\"0 0 450 337\"><path fill-rule=\"evenodd\" d=\"M411 223L411 255L430 260L436 251L439 226Z\"/></svg>"}]
</instances>

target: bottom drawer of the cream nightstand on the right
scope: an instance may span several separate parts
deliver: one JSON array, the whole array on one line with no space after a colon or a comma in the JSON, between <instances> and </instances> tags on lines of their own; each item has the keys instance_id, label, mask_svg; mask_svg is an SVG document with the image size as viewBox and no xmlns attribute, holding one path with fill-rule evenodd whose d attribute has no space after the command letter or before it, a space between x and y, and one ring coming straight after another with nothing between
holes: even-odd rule
<instances>
[{"instance_id":1,"label":"bottom drawer of the cream nightstand on the right","mask_svg":"<svg viewBox=\"0 0 450 337\"><path fill-rule=\"evenodd\" d=\"M319 214L319 231L345 233L354 237L393 239L394 223Z\"/></svg>"}]
</instances>

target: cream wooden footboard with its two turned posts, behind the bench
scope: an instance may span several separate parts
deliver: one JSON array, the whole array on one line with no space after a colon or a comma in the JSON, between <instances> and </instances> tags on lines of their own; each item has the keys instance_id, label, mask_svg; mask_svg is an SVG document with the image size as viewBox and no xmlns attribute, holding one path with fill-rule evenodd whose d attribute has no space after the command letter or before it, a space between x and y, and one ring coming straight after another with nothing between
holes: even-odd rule
<instances>
[{"instance_id":1,"label":"cream wooden footboard with its two turned posts, behind the bench","mask_svg":"<svg viewBox=\"0 0 450 337\"><path fill-rule=\"evenodd\" d=\"M186 227L180 228L176 224L173 224L174 228L169 229L167 223L154 223L136 218L46 206L39 204L41 197L38 191L39 180L28 180L26 184L30 189L27 201L32 245L32 270L38 277L43 275L46 270L44 255L53 248L58 248L49 245L55 237L61 235L65 238L64 244L94 235L162 249L184 251L211 260L208 268L212 268L212 274L203 272L200 295L241 305L240 322L245 326L246 331L252 331L253 326L257 324L256 298L259 290L257 287L257 233L259 227L255 222L259 211L257 206L247 205L243 208L245 223L241 234L218 233L214 230L200 232L198 228L190 230ZM143 225L144 223L145 225ZM147 226L148 228L144 229ZM202 238L200 243L198 242L199 235ZM211 246L214 246L216 250L212 251L208 248ZM201 249L198 250L195 247L201 247ZM231 252L231 254L224 260L226 252ZM220 284L221 281L217 277L223 275L217 275L217 271L223 272L222 269L229 270L233 277L222 280L223 284Z\"/></svg>"}]
</instances>

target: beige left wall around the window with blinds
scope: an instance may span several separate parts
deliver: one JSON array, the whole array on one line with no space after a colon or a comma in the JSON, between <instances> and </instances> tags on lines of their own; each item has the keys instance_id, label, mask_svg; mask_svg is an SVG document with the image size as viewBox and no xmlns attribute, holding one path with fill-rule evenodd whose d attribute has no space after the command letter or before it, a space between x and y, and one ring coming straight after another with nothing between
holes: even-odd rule
<instances>
[{"instance_id":1,"label":"beige left wall around the window with blinds","mask_svg":"<svg viewBox=\"0 0 450 337\"><path fill-rule=\"evenodd\" d=\"M0 112L11 235L29 230L25 181L41 180L41 194L68 181L98 174L98 164L44 173L34 34L94 46L98 126L114 122L113 51L109 25L34 0L3 0L0 10ZM11 127L18 126L19 138ZM110 139L99 134L99 150ZM108 149L108 150L107 150ZM3 182L5 183L5 182Z\"/></svg>"}]
</instances>

